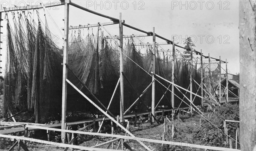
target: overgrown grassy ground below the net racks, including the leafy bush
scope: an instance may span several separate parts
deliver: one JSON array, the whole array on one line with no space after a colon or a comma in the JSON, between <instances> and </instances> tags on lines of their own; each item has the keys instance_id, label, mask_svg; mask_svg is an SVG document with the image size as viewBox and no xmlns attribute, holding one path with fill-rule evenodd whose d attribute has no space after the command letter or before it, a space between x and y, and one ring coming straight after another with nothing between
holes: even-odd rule
<instances>
[{"instance_id":1,"label":"overgrown grassy ground below the net racks, including the leafy bush","mask_svg":"<svg viewBox=\"0 0 256 151\"><path fill-rule=\"evenodd\" d=\"M205 111L205 115L211 115L211 112ZM25 118L26 119L26 118ZM157 124L156 122L152 125L147 122L147 119L144 117L138 118L137 125L134 126L133 121L130 121L130 132L137 137L147 138L147 139L157 139L162 140L163 134L163 116L157 116L157 119L160 120L161 124ZM197 144L197 145L207 145L207 146L218 146L218 147L226 147L229 148L229 143L227 143L226 136L222 132L223 130L223 121L224 119L231 119L231 120L239 120L239 106L238 105L222 105L216 108L216 112L207 120L211 121L215 126L210 124L207 120L203 119L200 115L188 114L180 115L180 120L176 119L172 121L175 125L175 135L174 139L172 140L172 123L169 123L169 130L165 134L166 141L173 141L173 142L184 142L189 144ZM56 122L56 121L55 121ZM57 121L58 122L58 121ZM49 122L49 124L52 122ZM53 122L54 123L54 122ZM216 129L216 127L219 128ZM229 134L232 138L235 138L236 128L239 125L237 123L231 124L229 123ZM97 128L97 127L96 127ZM104 125L104 128L110 128L110 125ZM115 128L116 129L116 128ZM106 131L108 134L111 134L111 130ZM105 132L105 133L106 133ZM34 132L30 132L32 138L35 137ZM45 134L45 132L44 132ZM54 138L60 138L59 133L55 133L56 135L53 136ZM119 131L118 133L115 131L115 134L125 135L124 132ZM22 136L23 134L17 134L17 136ZM42 135L39 135L42 136ZM47 138L38 138L44 139ZM101 144L103 142L107 142L111 140L111 138L104 138L104 137L96 137L96 136L88 136L88 135L78 135L77 142L81 146L94 146L96 144ZM56 140L55 140L56 141ZM131 146L131 148L135 151L144 151L142 145L140 145L135 140L126 140L127 144ZM57 142L60 142L58 139ZM9 139L0 138L0 150L7 151L7 148L10 148L14 142L10 141ZM118 141L113 142L113 148L116 149L118 145ZM155 151L159 151L161 149L161 144L151 143L151 142L144 142L149 148ZM233 141L233 147L235 142ZM26 142L29 150L31 151L60 151L63 148L58 148L56 146L50 145L43 145L38 143L31 143ZM102 146L101 148L107 148L108 145ZM239 147L240 148L240 147ZM238 149L239 149L238 148ZM17 150L17 148L15 148ZM182 146L174 146L174 145L165 145L164 151L203 151L202 149L198 148L191 148L191 147L182 147Z\"/></svg>"}]
</instances>

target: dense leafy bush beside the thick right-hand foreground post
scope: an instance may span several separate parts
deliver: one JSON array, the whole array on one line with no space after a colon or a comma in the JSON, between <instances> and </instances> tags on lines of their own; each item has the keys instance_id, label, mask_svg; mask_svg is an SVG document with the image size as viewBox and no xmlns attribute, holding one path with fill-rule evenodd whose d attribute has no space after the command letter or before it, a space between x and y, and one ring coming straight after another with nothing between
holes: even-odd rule
<instances>
[{"instance_id":1,"label":"dense leafy bush beside the thick right-hand foreground post","mask_svg":"<svg viewBox=\"0 0 256 151\"><path fill-rule=\"evenodd\" d=\"M239 105L221 105L216 107L215 111L213 116L208 120L222 131L209 123L206 119L202 118L201 125L195 130L193 136L195 139L201 140L204 145L225 147L226 135L224 134L223 122L225 119L239 120ZM235 138L236 129L239 128L239 123L229 122L227 128L228 135Z\"/></svg>"}]
</instances>

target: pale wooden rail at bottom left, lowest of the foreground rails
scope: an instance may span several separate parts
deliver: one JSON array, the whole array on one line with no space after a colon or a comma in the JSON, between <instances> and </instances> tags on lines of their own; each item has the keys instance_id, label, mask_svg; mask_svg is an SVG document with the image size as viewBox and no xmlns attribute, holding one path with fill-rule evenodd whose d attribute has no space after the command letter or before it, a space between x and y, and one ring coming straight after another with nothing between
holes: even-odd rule
<instances>
[{"instance_id":1,"label":"pale wooden rail at bottom left, lowest of the foreground rails","mask_svg":"<svg viewBox=\"0 0 256 151\"><path fill-rule=\"evenodd\" d=\"M68 147L68 148L83 149L86 151L112 151L112 150L106 149L106 148L92 148L92 147L85 147L85 146L78 146L78 145L63 144L63 143L58 143L58 142L49 142L46 140L33 139L33 138L28 138L28 137L23 137L23 136L12 136L12 135L0 134L0 137L12 138L12 139L30 141L30 142L39 142L41 144L53 145L53 146L62 147L62 148ZM119 151L121 151L121 150L119 150Z\"/></svg>"}]
</instances>

